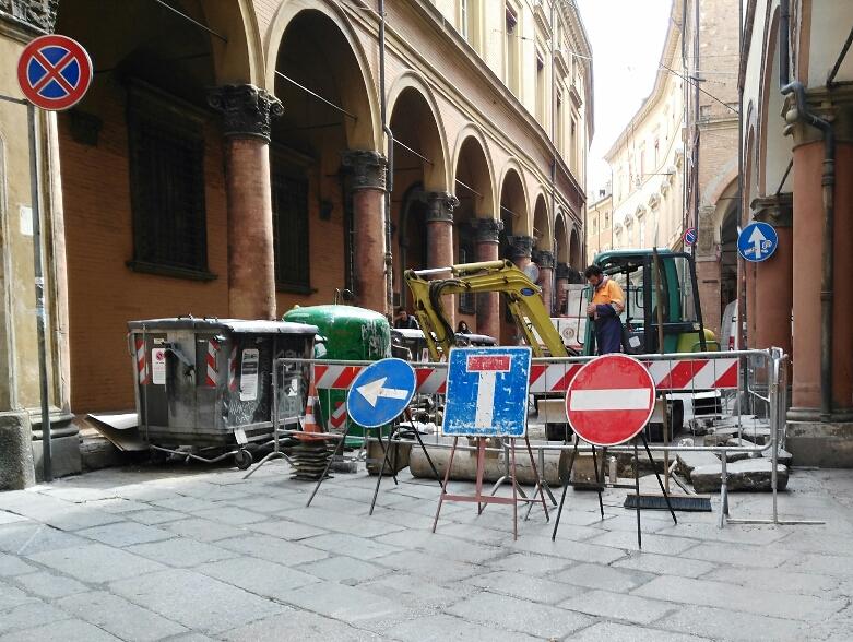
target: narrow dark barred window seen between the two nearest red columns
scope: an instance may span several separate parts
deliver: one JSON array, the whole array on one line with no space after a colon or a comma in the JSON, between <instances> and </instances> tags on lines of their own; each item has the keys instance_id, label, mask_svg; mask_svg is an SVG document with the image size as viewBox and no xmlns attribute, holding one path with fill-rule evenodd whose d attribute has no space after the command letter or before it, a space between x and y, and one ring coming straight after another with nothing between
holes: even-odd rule
<instances>
[{"instance_id":1,"label":"narrow dark barred window seen between the two nearest red columns","mask_svg":"<svg viewBox=\"0 0 853 642\"><path fill-rule=\"evenodd\" d=\"M272 166L275 283L281 289L308 293L308 180L276 158Z\"/></svg>"}]
</instances>

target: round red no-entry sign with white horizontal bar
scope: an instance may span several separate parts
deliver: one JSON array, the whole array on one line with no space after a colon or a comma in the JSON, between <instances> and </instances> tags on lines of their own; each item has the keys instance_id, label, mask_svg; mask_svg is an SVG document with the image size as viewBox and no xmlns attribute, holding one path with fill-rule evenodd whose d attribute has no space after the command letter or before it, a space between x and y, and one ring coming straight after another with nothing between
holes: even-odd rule
<instances>
[{"instance_id":1,"label":"round red no-entry sign with white horizontal bar","mask_svg":"<svg viewBox=\"0 0 853 642\"><path fill-rule=\"evenodd\" d=\"M635 438L654 411L654 380L640 361L604 355L585 364L566 391L569 425L584 441L607 447Z\"/></svg>"}]
</instances>

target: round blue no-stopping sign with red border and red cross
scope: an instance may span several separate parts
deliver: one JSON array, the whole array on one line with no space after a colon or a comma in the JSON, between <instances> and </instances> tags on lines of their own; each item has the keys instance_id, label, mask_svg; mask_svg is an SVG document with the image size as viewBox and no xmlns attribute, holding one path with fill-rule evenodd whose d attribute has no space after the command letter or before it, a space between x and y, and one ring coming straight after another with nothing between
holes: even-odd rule
<instances>
[{"instance_id":1,"label":"round blue no-stopping sign with red border and red cross","mask_svg":"<svg viewBox=\"0 0 853 642\"><path fill-rule=\"evenodd\" d=\"M36 107L59 111L76 105L92 84L92 59L67 36L40 36L17 60L17 83Z\"/></svg>"}]
</instances>

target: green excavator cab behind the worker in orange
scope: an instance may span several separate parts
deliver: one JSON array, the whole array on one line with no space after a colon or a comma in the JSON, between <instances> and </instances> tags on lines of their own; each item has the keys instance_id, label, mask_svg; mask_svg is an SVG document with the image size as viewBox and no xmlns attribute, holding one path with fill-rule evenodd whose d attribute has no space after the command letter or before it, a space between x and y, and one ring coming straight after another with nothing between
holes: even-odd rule
<instances>
[{"instance_id":1,"label":"green excavator cab behind the worker in orange","mask_svg":"<svg viewBox=\"0 0 853 642\"><path fill-rule=\"evenodd\" d=\"M621 313L626 329L625 352L671 354L720 349L716 337L702 322L696 266L690 254L671 250L657 250L656 255L647 249L613 250L599 254L595 264L625 293ZM663 319L663 349L659 345L659 307ZM583 348L584 354L595 354L591 323L587 325Z\"/></svg>"}]
</instances>

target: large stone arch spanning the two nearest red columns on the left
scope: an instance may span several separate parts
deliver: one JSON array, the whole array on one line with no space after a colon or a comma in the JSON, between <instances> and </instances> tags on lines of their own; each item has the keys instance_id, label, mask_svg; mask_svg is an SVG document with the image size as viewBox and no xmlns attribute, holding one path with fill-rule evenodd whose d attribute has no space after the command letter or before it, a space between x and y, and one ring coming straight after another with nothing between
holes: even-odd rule
<instances>
[{"instance_id":1,"label":"large stone arch spanning the two nearest red columns on the left","mask_svg":"<svg viewBox=\"0 0 853 642\"><path fill-rule=\"evenodd\" d=\"M356 117L355 119L344 118L347 144L353 150L381 151L383 148L383 134L379 115L379 98L375 91L376 83L355 29L337 3L325 0L292 0L279 8L266 32L266 41L264 43L268 61L266 86L276 86L276 70L282 43L288 28L294 24L294 21L306 20L307 16L317 17L318 14L325 19L325 26L332 29L329 34L332 36L332 40L323 43L323 57L327 57L328 49L333 44L341 45L341 43L334 43L333 36L336 32L346 44L352 62L354 62L351 73L342 74L337 79L342 83L340 87L341 107ZM347 52L339 51L339 54L346 56ZM331 80L334 82L334 79ZM344 81L346 84L343 84Z\"/></svg>"}]
</instances>

